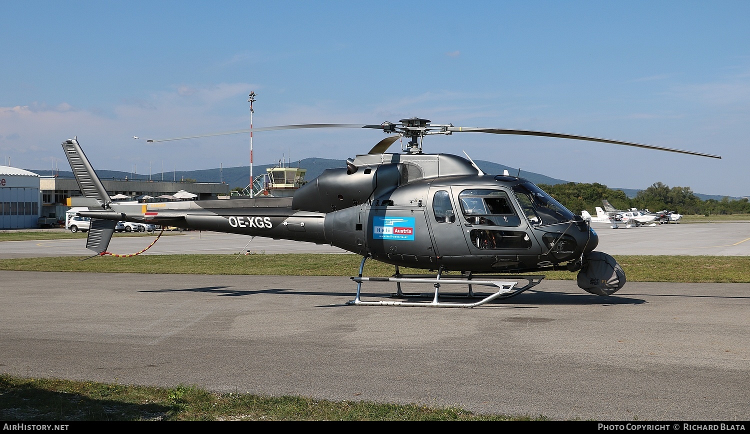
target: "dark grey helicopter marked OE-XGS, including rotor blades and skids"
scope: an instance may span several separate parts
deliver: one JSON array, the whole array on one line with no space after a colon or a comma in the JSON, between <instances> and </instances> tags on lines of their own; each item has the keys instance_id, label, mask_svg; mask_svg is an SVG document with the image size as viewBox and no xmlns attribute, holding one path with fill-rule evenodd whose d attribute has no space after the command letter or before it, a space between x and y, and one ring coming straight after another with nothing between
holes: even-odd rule
<instances>
[{"instance_id":1,"label":"dark grey helicopter marked OE-XGS, including rotor blades and skids","mask_svg":"<svg viewBox=\"0 0 750 434\"><path fill-rule=\"evenodd\" d=\"M524 178L507 171L484 173L465 152L465 157L423 152L426 136L464 132L547 136L721 158L564 133L455 127L424 118L382 124L281 125L148 142L336 127L381 130L389 136L367 154L348 158L345 167L326 169L291 197L154 204L122 204L110 199L77 139L68 139L62 147L83 193L69 198L68 205L89 208L78 214L92 219L86 247L97 255L106 253L117 221L330 244L362 256L358 275L351 277L357 283L356 297L347 304L476 307L533 288L544 279L536 273L577 272L578 286L601 296L621 289L625 273L612 256L595 250L598 235L583 217ZM401 152L388 152L399 139ZM395 274L365 276L368 259L393 265ZM401 274L401 267L431 274ZM365 282L395 283L394 298L432 301L365 301ZM428 283L434 291L404 292L402 283ZM468 288L466 292L441 293L442 285ZM475 293L473 286L488 286L492 292ZM446 298L472 301L443 301Z\"/></svg>"}]
</instances>

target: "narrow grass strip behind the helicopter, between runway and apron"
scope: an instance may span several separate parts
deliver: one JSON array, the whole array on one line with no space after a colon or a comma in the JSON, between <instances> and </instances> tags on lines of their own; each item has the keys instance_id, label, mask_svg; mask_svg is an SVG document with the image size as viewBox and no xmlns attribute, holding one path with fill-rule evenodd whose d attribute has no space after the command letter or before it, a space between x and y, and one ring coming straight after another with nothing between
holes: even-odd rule
<instances>
[{"instance_id":1,"label":"narrow grass strip behind the helicopter, between runway and apron","mask_svg":"<svg viewBox=\"0 0 750 434\"><path fill-rule=\"evenodd\" d=\"M58 256L0 259L0 270L74 271L83 273L232 274L278 276L355 276L362 256L354 254L289 253L276 255L141 255ZM750 283L746 256L615 256L631 282ZM429 274L400 268L402 274ZM389 277L392 265L368 261L365 275ZM457 273L452 273L457 274ZM538 274L538 273L537 273ZM548 280L576 280L577 273L541 273Z\"/></svg>"}]
</instances>

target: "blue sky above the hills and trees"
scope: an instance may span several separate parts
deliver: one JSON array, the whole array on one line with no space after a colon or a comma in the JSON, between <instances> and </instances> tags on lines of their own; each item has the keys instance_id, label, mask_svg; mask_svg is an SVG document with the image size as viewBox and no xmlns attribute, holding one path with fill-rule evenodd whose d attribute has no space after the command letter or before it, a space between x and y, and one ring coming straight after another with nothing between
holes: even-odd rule
<instances>
[{"instance_id":1,"label":"blue sky above the hills and trees","mask_svg":"<svg viewBox=\"0 0 750 434\"><path fill-rule=\"evenodd\" d=\"M461 133L427 152L577 182L750 195L750 1L7 1L0 164L250 164L250 126L427 118L718 154ZM133 139L139 136L142 139ZM255 133L254 164L346 160L377 130ZM398 144L395 145L398 149Z\"/></svg>"}]
</instances>

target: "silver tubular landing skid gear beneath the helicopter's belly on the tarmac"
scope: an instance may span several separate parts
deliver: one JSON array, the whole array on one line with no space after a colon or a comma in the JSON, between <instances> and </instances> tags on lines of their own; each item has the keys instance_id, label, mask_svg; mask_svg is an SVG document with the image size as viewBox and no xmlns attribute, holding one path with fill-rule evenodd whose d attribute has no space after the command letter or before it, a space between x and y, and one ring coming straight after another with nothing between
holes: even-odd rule
<instances>
[{"instance_id":1,"label":"silver tubular landing skid gear beneath the helicopter's belly on the tarmac","mask_svg":"<svg viewBox=\"0 0 750 434\"><path fill-rule=\"evenodd\" d=\"M437 276L433 274L401 274L396 267L396 273L394 277L363 277L362 272L365 269L365 261L368 256L362 258L362 264L359 265L359 276L352 277L351 279L357 283L357 294L353 301L347 301L350 305L362 305L362 306L400 306L400 307L477 307L485 304L489 301L496 299L511 298L514 295L518 295L526 289L530 289L544 279L544 276L509 276L500 274L481 274L473 275L471 273L462 273L460 279L443 279L443 268L440 268ZM477 280L482 279L482 280ZM490 279L490 280L485 280ZM517 286L518 282L514 280L526 280L526 285ZM411 302L411 301L362 301L360 295L362 294L362 282L394 282L396 283L396 292L391 297L398 298L429 298L432 297L431 302ZM434 286L434 293L425 292L402 292L401 283L432 283ZM440 293L440 286L445 285L466 285L468 286L467 292L448 292ZM473 292L473 286L491 286L497 289L493 293L475 293ZM481 298L481 300L473 303L444 303L440 301L440 298Z\"/></svg>"}]
</instances>

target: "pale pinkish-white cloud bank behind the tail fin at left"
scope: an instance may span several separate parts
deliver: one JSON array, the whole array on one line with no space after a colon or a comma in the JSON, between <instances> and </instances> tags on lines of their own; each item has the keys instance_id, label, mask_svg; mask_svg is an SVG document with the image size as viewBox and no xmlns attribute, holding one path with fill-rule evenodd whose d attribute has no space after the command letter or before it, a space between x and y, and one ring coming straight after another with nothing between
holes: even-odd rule
<instances>
[{"instance_id":1,"label":"pale pinkish-white cloud bank behind the tail fin at left","mask_svg":"<svg viewBox=\"0 0 750 434\"><path fill-rule=\"evenodd\" d=\"M105 110L85 109L68 102L56 106L33 103L0 107L0 131L3 132L0 155L10 157L13 166L46 169L52 160L65 160L59 144L79 136L89 158L105 162L102 169L127 170L127 166L113 166L117 161L142 164L154 156L144 145L136 146L132 136L143 137L144 133L185 135L234 128L236 119L221 116L217 111L226 100L246 94L250 89L247 83L181 85L147 98L121 101Z\"/></svg>"}]
</instances>

